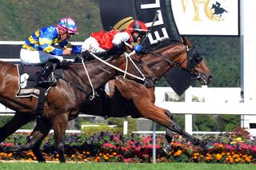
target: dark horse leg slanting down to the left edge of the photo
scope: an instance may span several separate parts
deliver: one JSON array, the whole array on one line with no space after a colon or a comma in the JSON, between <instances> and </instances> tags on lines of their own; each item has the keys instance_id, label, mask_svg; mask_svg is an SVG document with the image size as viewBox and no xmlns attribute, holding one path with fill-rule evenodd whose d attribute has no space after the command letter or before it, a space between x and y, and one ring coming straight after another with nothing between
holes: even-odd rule
<instances>
[{"instance_id":1,"label":"dark horse leg slanting down to the left edge of the photo","mask_svg":"<svg viewBox=\"0 0 256 170\"><path fill-rule=\"evenodd\" d=\"M33 119L34 117L30 113L15 113L14 117L0 128L0 142Z\"/></svg>"}]
</instances>

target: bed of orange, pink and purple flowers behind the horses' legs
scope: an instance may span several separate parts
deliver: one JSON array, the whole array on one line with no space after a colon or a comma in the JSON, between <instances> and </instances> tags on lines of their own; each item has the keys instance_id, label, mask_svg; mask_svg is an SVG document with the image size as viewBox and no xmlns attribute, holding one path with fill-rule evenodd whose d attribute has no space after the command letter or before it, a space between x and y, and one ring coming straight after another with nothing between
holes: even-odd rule
<instances>
[{"instance_id":1,"label":"bed of orange, pink and purple flowers behind the horses' legs","mask_svg":"<svg viewBox=\"0 0 256 170\"><path fill-rule=\"evenodd\" d=\"M10 136L2 147L24 144L27 134L16 133ZM226 164L256 164L255 140L244 137L222 135L208 138L214 143L210 152L202 152L186 140L174 137L169 154L163 152L166 144L164 136L157 136L158 162L204 162ZM138 135L116 135L101 132L96 135L70 134L65 139L66 160L101 162L152 162L152 138ZM58 160L53 136L47 136L42 145L46 160ZM0 160L36 160L33 152L0 152Z\"/></svg>"}]
</instances>

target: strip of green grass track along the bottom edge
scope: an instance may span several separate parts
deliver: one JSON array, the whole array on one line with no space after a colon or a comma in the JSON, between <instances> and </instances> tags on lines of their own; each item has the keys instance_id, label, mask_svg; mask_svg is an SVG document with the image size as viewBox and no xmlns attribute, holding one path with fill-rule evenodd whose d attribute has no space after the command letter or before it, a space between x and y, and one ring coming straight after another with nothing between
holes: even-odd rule
<instances>
[{"instance_id":1,"label":"strip of green grass track along the bottom edge","mask_svg":"<svg viewBox=\"0 0 256 170\"><path fill-rule=\"evenodd\" d=\"M158 164L126 164L126 163L8 163L0 162L0 169L28 170L255 170L256 164L190 164L190 163L158 163Z\"/></svg>"}]
</instances>

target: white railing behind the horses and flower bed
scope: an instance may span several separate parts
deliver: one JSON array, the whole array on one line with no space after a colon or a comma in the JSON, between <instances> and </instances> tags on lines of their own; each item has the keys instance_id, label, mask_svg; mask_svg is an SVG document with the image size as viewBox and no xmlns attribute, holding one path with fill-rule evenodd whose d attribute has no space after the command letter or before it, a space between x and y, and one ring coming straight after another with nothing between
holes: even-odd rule
<instances>
[{"instance_id":1,"label":"white railing behind the horses and flower bed","mask_svg":"<svg viewBox=\"0 0 256 170\"><path fill-rule=\"evenodd\" d=\"M190 134L202 134L209 132L192 131L193 114L234 114L234 115L256 115L254 104L240 103L239 88L190 88L186 90L185 102L166 101L166 94L174 93L171 88L155 88L155 105L170 110L170 113L185 114L185 130ZM202 97L203 95L203 97ZM205 102L191 102L193 97L203 98ZM210 98L210 99L209 99ZM2 112L2 113L1 113ZM0 106L0 116L13 116L14 111ZM79 114L78 117L94 117L93 115ZM126 127L127 125L125 125ZM256 129L250 132L255 136ZM126 131L127 132L127 131ZM210 132L218 133L218 132Z\"/></svg>"}]
</instances>

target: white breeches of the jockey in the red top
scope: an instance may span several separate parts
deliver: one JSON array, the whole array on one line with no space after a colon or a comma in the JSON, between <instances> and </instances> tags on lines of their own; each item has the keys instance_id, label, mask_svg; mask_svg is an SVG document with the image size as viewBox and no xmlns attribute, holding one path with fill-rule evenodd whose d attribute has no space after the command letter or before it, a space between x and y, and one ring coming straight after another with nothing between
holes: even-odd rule
<instances>
[{"instance_id":1,"label":"white breeches of the jockey in the red top","mask_svg":"<svg viewBox=\"0 0 256 170\"><path fill-rule=\"evenodd\" d=\"M83 42L82 52L86 50L90 51L90 53L102 53L106 51L99 47L97 40L93 37L87 38L85 42Z\"/></svg>"}]
</instances>

